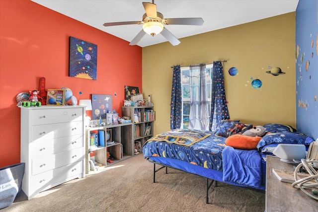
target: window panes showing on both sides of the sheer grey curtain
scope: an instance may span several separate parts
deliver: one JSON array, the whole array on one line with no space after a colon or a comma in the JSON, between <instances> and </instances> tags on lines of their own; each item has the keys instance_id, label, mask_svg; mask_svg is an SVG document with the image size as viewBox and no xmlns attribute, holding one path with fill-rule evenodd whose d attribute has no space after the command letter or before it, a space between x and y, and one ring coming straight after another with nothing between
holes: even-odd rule
<instances>
[{"instance_id":1,"label":"window panes showing on both sides of the sheer grey curtain","mask_svg":"<svg viewBox=\"0 0 318 212\"><path fill-rule=\"evenodd\" d=\"M206 86L208 95L208 114L211 114L211 92L212 92L212 69L213 64L206 65ZM195 75L197 74L197 75ZM191 91L190 91L190 77L198 77L200 73L190 73L190 67L181 67L181 89L182 89L182 120L181 128L189 128L189 116L190 116L190 103L191 103ZM210 117L210 116L209 116Z\"/></svg>"}]
</instances>

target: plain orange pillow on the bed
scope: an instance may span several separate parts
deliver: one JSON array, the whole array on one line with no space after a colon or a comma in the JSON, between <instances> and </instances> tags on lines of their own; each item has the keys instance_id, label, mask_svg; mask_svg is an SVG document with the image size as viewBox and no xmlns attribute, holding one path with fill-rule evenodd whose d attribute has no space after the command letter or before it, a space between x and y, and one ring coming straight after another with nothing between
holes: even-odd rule
<instances>
[{"instance_id":1,"label":"plain orange pillow on the bed","mask_svg":"<svg viewBox=\"0 0 318 212\"><path fill-rule=\"evenodd\" d=\"M251 136L236 134L233 136L229 136L225 140L225 143L234 148L250 150L250 149L256 149L256 145L261 139L262 139L261 137L251 137Z\"/></svg>"}]
</instances>

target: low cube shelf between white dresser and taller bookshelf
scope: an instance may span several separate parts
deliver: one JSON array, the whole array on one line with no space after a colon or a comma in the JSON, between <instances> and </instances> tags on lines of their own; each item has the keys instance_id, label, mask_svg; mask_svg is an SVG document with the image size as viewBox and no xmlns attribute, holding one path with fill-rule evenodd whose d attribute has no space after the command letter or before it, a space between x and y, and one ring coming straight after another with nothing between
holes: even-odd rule
<instances>
[{"instance_id":1,"label":"low cube shelf between white dresser and taller bookshelf","mask_svg":"<svg viewBox=\"0 0 318 212\"><path fill-rule=\"evenodd\" d=\"M94 143L92 141L91 133L97 133L100 131L108 132L110 134L109 140L106 140L106 136L104 137L104 141L99 141L99 144L102 145L91 145ZM95 171L100 171L106 168L109 165L115 164L121 160L130 158L134 156L134 143L133 143L133 134L132 134L132 123L124 123L117 125L106 125L106 126L97 126L86 128L85 132L86 136L86 174L94 173L94 170L90 169L91 164L90 160L95 161L97 164L101 164L100 166L95 166ZM100 136L98 137L100 138ZM107 144L107 142L114 141L111 144ZM113 162L107 162L107 151L113 157ZM90 156L90 152L94 152L94 156Z\"/></svg>"}]
</instances>

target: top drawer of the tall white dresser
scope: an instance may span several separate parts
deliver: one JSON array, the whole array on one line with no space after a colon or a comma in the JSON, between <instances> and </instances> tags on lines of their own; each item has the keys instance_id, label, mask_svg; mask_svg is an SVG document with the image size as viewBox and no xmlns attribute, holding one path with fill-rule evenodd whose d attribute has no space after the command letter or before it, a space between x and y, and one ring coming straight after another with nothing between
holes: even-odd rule
<instances>
[{"instance_id":1,"label":"top drawer of the tall white dresser","mask_svg":"<svg viewBox=\"0 0 318 212\"><path fill-rule=\"evenodd\" d=\"M44 125L63 122L82 121L82 108L54 108L32 110L31 125Z\"/></svg>"}]
</instances>

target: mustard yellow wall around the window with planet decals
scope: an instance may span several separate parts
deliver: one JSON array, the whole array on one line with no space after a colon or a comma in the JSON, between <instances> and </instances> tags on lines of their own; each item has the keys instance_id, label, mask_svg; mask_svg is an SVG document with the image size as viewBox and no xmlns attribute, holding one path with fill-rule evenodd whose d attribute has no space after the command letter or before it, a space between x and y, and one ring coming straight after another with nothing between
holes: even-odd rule
<instances>
[{"instance_id":1,"label":"mustard yellow wall around the window with planet decals","mask_svg":"<svg viewBox=\"0 0 318 212\"><path fill-rule=\"evenodd\" d=\"M165 42L143 48L142 91L144 96L151 94L155 105L155 134L170 130L170 67L217 60L228 61L223 66L231 119L254 126L296 127L295 12L179 40L178 46ZM286 74L268 74L268 66L280 67ZM231 76L231 67L239 74ZM253 88L251 77L260 79L262 87Z\"/></svg>"}]
</instances>

